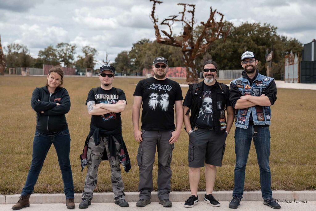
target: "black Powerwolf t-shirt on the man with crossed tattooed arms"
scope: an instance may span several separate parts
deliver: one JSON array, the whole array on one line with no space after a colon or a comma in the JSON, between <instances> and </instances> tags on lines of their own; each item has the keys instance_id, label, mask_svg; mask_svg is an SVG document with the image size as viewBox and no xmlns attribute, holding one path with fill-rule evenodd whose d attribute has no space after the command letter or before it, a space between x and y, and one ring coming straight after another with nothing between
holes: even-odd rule
<instances>
[{"instance_id":1,"label":"black Powerwolf t-shirt on the man with crossed tattooed arms","mask_svg":"<svg viewBox=\"0 0 316 211\"><path fill-rule=\"evenodd\" d=\"M89 91L86 105L89 101L94 101L95 104L115 104L120 99L126 101L123 90L120 90L120 92L117 93L115 87L112 87L110 90L104 90L101 87L98 87L96 93L93 92L93 89ZM115 130L122 126L121 113L110 112L99 116L91 115L90 127L91 125L105 130Z\"/></svg>"}]
</instances>

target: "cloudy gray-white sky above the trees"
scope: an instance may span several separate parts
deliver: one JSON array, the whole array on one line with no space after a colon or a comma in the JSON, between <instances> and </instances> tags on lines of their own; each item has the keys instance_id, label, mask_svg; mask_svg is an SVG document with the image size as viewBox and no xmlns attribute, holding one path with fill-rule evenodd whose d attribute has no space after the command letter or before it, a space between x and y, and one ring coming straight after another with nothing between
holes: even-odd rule
<instances>
[{"instance_id":1,"label":"cloudy gray-white sky above the trees","mask_svg":"<svg viewBox=\"0 0 316 211\"><path fill-rule=\"evenodd\" d=\"M159 21L182 11L179 2L196 4L197 23L208 19L212 6L236 26L246 21L267 22L278 27L279 34L303 44L316 38L314 0L165 0L156 7ZM3 46L27 45L33 57L60 42L76 44L78 54L82 46L89 45L99 51L100 61L105 52L114 61L138 40L155 39L151 9L149 0L0 0L1 42ZM180 33L181 24L174 24L173 31Z\"/></svg>"}]
</instances>

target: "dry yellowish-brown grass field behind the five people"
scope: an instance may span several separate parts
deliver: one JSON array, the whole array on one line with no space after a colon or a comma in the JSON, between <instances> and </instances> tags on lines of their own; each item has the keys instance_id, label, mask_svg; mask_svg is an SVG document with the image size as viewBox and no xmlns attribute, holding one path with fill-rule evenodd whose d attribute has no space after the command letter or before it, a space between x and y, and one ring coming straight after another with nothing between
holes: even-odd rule
<instances>
[{"instance_id":1,"label":"dry yellowish-brown grass field behind the five people","mask_svg":"<svg viewBox=\"0 0 316 211\"><path fill-rule=\"evenodd\" d=\"M122 169L125 191L137 191L138 166L136 161L138 142L134 140L131 113L133 92L137 78L115 78L113 85L122 88L127 98L127 107L122 112L123 137L128 148L132 169ZM177 79L178 82L184 80ZM229 81L221 81L229 83ZM32 159L32 142L36 114L30 99L35 87L42 87L45 77L0 77L0 194L20 193L25 183ZM82 192L87 168L81 172L79 154L89 132L90 116L85 101L88 91L100 85L98 78L65 77L64 87L71 99L71 109L66 118L71 136L70 161L75 192ZM182 87L183 95L187 91ZM273 190L316 189L316 91L278 89L277 101L272 109L270 169ZM182 130L173 151L171 180L172 190L189 190L187 146L188 136ZM157 156L157 155L156 155ZM223 166L217 168L215 190L232 190L234 187L234 126L226 140ZM201 172L199 190L205 190L204 168ZM154 166L154 188L157 189L157 159ZM46 161L34 188L35 193L61 193L64 190L54 147ZM246 167L245 190L260 190L259 167L255 149L251 147ZM99 167L95 192L112 191L108 161Z\"/></svg>"}]
</instances>

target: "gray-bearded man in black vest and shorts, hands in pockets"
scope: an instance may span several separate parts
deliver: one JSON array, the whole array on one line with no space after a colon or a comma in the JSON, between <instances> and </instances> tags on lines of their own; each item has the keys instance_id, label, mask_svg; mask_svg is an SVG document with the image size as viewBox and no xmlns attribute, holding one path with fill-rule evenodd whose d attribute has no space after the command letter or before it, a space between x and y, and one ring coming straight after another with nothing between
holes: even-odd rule
<instances>
[{"instance_id":1,"label":"gray-bearded man in black vest and shorts, hands in pockets","mask_svg":"<svg viewBox=\"0 0 316 211\"><path fill-rule=\"evenodd\" d=\"M216 178L216 166L222 166L225 141L234 121L229 104L228 86L216 81L217 64L203 64L204 81L189 84L183 102L184 125L189 135L189 182L191 196L184 206L191 208L198 203L197 188L200 168L205 164L206 194L204 202L213 207L220 203L212 195ZM225 118L227 111L227 122ZM191 115L189 112L191 111Z\"/></svg>"}]
</instances>

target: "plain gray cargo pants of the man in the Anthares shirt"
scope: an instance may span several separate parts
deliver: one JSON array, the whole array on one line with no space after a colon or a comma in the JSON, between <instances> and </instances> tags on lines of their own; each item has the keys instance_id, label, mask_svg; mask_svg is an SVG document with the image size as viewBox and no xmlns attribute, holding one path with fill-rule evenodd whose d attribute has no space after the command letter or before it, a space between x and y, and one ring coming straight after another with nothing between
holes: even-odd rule
<instances>
[{"instance_id":1,"label":"plain gray cargo pants of the man in the Anthares shirt","mask_svg":"<svg viewBox=\"0 0 316 211\"><path fill-rule=\"evenodd\" d=\"M150 200L153 188L153 165L155 162L156 146L158 152L158 198L169 199L171 190L171 168L172 150L174 144L169 144L171 131L142 130L143 142L139 143L137 163L139 166L140 199Z\"/></svg>"}]
</instances>

